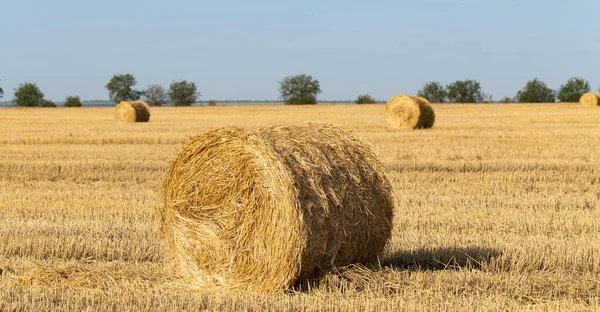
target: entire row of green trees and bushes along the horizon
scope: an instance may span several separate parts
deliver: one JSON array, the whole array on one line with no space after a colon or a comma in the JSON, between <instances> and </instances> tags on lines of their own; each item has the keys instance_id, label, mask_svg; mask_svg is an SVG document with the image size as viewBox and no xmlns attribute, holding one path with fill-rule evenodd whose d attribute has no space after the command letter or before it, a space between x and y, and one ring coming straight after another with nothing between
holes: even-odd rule
<instances>
[{"instance_id":1,"label":"entire row of green trees and bushes along the horizon","mask_svg":"<svg viewBox=\"0 0 600 312\"><path fill-rule=\"evenodd\" d=\"M175 106L190 106L201 97L196 84L187 80L173 81L169 89L159 84L151 84L146 89L136 89L137 81L132 74L114 75L106 84L109 98L115 103L121 101L135 101L143 98L151 106L162 106L172 103ZM561 102L577 102L579 98L591 87L587 80L573 77L558 90L552 90L537 78L527 82L523 89L514 97L504 97L501 103L553 103L558 99ZM319 81L310 75L295 75L285 77L279 82L279 98L290 105L316 104L317 95L321 93ZM0 98L4 91L0 88ZM437 81L430 81L417 92L417 96L424 97L433 103L489 103L492 96L484 93L481 84L476 80L457 80L446 86ZM13 106L41 106L56 107L55 103L44 98L35 83L26 82L15 89ZM369 94L361 94L355 100L357 104L376 103ZM208 105L216 105L209 101ZM65 107L81 106L79 96L68 96L64 102Z\"/></svg>"}]
</instances>

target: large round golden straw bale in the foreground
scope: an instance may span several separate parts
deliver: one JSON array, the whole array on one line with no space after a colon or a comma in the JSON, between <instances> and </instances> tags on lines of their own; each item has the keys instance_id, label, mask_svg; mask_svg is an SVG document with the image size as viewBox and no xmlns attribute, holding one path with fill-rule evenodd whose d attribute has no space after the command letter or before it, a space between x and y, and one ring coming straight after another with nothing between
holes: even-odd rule
<instances>
[{"instance_id":1,"label":"large round golden straw bale in the foreground","mask_svg":"<svg viewBox=\"0 0 600 312\"><path fill-rule=\"evenodd\" d=\"M284 291L377 259L392 189L373 151L330 124L212 130L171 161L159 208L179 273L212 291Z\"/></svg>"}]
</instances>

